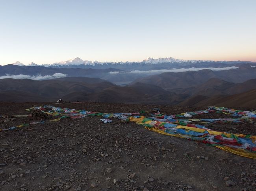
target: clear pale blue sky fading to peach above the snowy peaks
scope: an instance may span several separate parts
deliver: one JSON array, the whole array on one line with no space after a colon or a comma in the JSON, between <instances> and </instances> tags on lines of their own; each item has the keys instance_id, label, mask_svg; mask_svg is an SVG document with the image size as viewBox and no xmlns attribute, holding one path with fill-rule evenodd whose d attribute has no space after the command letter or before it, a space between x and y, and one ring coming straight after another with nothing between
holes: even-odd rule
<instances>
[{"instance_id":1,"label":"clear pale blue sky fading to peach above the snowy peaks","mask_svg":"<svg viewBox=\"0 0 256 191\"><path fill-rule=\"evenodd\" d=\"M256 62L255 0L0 0L0 65Z\"/></svg>"}]
</instances>

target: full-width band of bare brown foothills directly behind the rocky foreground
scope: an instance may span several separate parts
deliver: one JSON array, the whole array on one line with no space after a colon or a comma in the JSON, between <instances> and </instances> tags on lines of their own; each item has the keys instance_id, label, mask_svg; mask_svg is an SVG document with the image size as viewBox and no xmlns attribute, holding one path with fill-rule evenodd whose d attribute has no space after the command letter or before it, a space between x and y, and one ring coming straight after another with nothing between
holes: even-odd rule
<instances>
[{"instance_id":1,"label":"full-width band of bare brown foothills directly behind the rocky foreground","mask_svg":"<svg viewBox=\"0 0 256 191\"><path fill-rule=\"evenodd\" d=\"M86 77L41 81L6 78L0 80L0 101L55 102L62 98L69 102L256 107L256 79L234 84L211 78L193 89L192 92L187 89L183 92L167 91L141 82L120 87L100 78Z\"/></svg>"}]
</instances>

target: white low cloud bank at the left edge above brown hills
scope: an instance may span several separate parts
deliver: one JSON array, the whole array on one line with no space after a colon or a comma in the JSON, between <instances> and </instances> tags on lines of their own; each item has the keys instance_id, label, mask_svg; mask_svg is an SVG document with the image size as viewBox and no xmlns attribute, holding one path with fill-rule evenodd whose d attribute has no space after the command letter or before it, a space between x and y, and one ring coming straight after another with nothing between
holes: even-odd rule
<instances>
[{"instance_id":1,"label":"white low cloud bank at the left edge above brown hills","mask_svg":"<svg viewBox=\"0 0 256 191\"><path fill-rule=\"evenodd\" d=\"M66 74L62 74L62 73L55 73L54 75L46 75L46 76L42 76L42 75L36 75L36 76L30 76L30 75L8 75L6 74L5 76L0 76L0 79L4 79L4 78L13 78L13 79L31 79L31 80L48 80L48 79L54 79L54 78L61 78L61 77L66 77Z\"/></svg>"}]
</instances>

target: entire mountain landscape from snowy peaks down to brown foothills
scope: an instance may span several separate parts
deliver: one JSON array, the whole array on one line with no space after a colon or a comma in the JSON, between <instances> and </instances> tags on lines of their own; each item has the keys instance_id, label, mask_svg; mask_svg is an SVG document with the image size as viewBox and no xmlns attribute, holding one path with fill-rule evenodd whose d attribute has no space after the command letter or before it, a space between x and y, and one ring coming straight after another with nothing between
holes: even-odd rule
<instances>
[{"instance_id":1,"label":"entire mountain landscape from snowy peaks down to brown foothills","mask_svg":"<svg viewBox=\"0 0 256 191\"><path fill-rule=\"evenodd\" d=\"M0 101L256 107L256 63L147 58L0 65ZM242 100L241 100L242 99ZM222 105L220 105L222 104Z\"/></svg>"}]
</instances>

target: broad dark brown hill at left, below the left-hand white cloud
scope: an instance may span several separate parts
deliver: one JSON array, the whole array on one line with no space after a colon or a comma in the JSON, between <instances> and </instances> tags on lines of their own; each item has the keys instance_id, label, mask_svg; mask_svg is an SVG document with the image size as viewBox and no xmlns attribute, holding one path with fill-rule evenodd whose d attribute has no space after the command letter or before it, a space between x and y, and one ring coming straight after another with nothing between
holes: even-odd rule
<instances>
[{"instance_id":1,"label":"broad dark brown hill at left, below the left-hand white cloud","mask_svg":"<svg viewBox=\"0 0 256 191\"><path fill-rule=\"evenodd\" d=\"M6 78L0 80L1 101L56 101L64 95L76 91L94 93L114 84L98 78L58 78L54 80L19 80ZM17 92L21 92L20 95ZM28 96L22 96L24 93ZM10 96L9 96L10 95ZM11 99L15 95L15 99ZM8 98L9 96L9 98Z\"/></svg>"}]
</instances>

